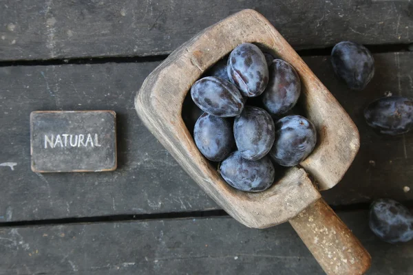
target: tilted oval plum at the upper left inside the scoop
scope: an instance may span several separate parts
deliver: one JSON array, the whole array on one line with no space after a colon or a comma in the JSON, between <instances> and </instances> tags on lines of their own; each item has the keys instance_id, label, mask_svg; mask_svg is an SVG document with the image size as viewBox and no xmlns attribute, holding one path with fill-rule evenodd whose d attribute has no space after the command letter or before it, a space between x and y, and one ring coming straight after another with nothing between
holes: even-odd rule
<instances>
[{"instance_id":1,"label":"tilted oval plum at the upper left inside the scoop","mask_svg":"<svg viewBox=\"0 0 413 275\"><path fill-rule=\"evenodd\" d=\"M191 87L191 97L202 111L224 118L239 115L244 98L232 83L215 76L201 78Z\"/></svg>"}]
</instances>

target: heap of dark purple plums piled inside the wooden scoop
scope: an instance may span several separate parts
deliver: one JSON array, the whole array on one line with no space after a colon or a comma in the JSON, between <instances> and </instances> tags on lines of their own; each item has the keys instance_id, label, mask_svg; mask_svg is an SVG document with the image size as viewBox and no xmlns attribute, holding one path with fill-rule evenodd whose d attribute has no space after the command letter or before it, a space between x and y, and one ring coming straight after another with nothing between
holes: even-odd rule
<instances>
[{"instance_id":1,"label":"heap of dark purple plums piled inside the wooden scoop","mask_svg":"<svg viewBox=\"0 0 413 275\"><path fill-rule=\"evenodd\" d=\"M275 179L273 162L295 166L315 147L314 124L286 115L300 91L289 63L251 43L238 45L191 87L193 102L204 111L193 130L196 146L207 159L220 162L220 175L234 188L266 190Z\"/></svg>"}]
</instances>

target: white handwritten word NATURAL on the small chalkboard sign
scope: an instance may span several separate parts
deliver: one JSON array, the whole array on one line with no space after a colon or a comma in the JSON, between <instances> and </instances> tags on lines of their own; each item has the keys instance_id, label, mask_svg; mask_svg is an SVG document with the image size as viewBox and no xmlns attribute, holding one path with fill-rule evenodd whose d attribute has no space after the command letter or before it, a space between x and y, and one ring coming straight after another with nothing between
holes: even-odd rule
<instances>
[{"instance_id":1,"label":"white handwritten word NATURAL on the small chalkboard sign","mask_svg":"<svg viewBox=\"0 0 413 275\"><path fill-rule=\"evenodd\" d=\"M100 147L98 134L70 135L67 133L59 135L45 135L45 148L74 148L74 147Z\"/></svg>"}]
</instances>

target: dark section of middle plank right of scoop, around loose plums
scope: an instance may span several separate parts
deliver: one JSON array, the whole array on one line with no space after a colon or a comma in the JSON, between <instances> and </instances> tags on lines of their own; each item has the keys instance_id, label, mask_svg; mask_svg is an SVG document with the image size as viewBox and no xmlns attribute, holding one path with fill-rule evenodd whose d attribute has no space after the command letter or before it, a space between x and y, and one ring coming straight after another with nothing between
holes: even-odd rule
<instances>
[{"instance_id":1,"label":"dark section of middle plank right of scoop, around loose plums","mask_svg":"<svg viewBox=\"0 0 413 275\"><path fill-rule=\"evenodd\" d=\"M374 132L363 117L372 100L390 91L394 96L413 98L413 53L375 54L376 74L363 91L350 91L335 78L330 58L308 57L306 63L321 79L359 128L361 145L343 180L322 193L328 203L342 205L393 197L413 199L413 135L396 137ZM345 199L344 199L345 197Z\"/></svg>"}]
</instances>

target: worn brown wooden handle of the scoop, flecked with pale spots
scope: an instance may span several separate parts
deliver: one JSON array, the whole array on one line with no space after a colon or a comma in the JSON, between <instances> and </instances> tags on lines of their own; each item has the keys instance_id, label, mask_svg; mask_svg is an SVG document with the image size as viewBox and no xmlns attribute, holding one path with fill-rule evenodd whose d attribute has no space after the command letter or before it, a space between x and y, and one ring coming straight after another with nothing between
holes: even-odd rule
<instances>
[{"instance_id":1,"label":"worn brown wooden handle of the scoop, flecked with pale spots","mask_svg":"<svg viewBox=\"0 0 413 275\"><path fill-rule=\"evenodd\" d=\"M324 199L290 219L290 224L326 274L357 275L370 268L370 254Z\"/></svg>"}]
</instances>

